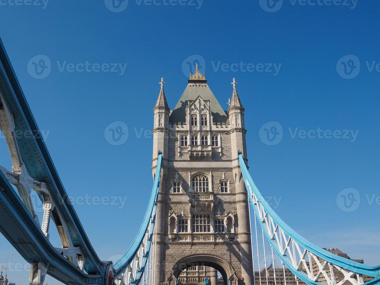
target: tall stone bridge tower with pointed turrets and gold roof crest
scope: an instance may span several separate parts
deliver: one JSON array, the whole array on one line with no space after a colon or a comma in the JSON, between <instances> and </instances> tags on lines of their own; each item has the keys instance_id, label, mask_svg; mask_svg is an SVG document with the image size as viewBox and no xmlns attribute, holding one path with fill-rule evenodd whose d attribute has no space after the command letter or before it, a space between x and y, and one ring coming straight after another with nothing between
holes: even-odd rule
<instances>
[{"instance_id":1,"label":"tall stone bridge tower with pointed turrets and gold roof crest","mask_svg":"<svg viewBox=\"0 0 380 285\"><path fill-rule=\"evenodd\" d=\"M155 285L177 284L191 266L224 283L253 284L249 204L238 154L247 159L244 108L236 92L224 111L204 74L190 73L170 111L163 80L154 107L153 173L162 153ZM199 273L198 273L199 274ZM180 282L179 282L180 283Z\"/></svg>"}]
</instances>

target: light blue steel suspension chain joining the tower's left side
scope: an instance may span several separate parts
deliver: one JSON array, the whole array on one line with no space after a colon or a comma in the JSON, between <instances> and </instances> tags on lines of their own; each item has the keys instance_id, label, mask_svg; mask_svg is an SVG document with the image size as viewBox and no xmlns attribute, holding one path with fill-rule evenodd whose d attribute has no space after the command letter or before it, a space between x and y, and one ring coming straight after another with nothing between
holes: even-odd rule
<instances>
[{"instance_id":1,"label":"light blue steel suspension chain joining the tower's left side","mask_svg":"<svg viewBox=\"0 0 380 285\"><path fill-rule=\"evenodd\" d=\"M130 245L129 249L127 250L127 252L113 266L116 276L121 274L122 272L124 272L128 268L128 266L131 264L133 258L135 258L136 253L138 252L140 245L143 242L143 239L144 239L144 236L148 230L148 227L150 226L151 227L150 228L151 234L149 236L149 240L147 243L147 252L146 252L146 255L144 256L144 260L142 261L142 266L141 266L141 269L139 271L139 274L137 275L137 278L135 279L135 282L133 284L138 284L142 278L142 275L144 273L145 266L147 263L147 257L149 256L150 247L152 245L153 229L155 226L155 217L156 217L156 213L157 213L158 189L160 188L161 163L162 163L162 154L159 154L158 160L157 160L157 168L156 168L156 174L155 174L154 184L153 184L153 188L152 188L152 193L150 195L149 204L148 204L147 211L145 213L144 220L142 221L141 227L140 227L135 239L133 240L132 244ZM152 215L154 218L151 220ZM150 222L150 221L152 221L152 222ZM150 225L149 225L149 223L150 223Z\"/></svg>"}]
</instances>

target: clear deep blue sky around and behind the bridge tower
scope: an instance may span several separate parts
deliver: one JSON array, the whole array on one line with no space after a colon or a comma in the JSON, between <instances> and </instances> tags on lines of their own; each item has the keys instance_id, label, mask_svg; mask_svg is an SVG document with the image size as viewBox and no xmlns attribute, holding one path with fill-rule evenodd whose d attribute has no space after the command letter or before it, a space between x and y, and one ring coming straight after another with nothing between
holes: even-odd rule
<instances>
[{"instance_id":1,"label":"clear deep blue sky around and behind the bridge tower","mask_svg":"<svg viewBox=\"0 0 380 285\"><path fill-rule=\"evenodd\" d=\"M223 108L239 83L250 173L280 217L321 247L380 263L379 2L129 0L116 12L108 0L18 3L0 1L0 36L102 260L125 252L146 210L158 82L174 108L197 62ZM39 75L41 59L50 64ZM128 139L115 146L105 130L118 121ZM10 169L3 137L0 157ZM0 236L0 262L12 254L25 264Z\"/></svg>"}]
</instances>

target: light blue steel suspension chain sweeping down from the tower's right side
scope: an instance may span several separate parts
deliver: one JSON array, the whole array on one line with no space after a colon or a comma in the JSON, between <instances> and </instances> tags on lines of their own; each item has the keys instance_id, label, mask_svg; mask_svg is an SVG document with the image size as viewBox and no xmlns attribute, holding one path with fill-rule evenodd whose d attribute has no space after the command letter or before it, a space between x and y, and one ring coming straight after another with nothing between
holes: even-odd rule
<instances>
[{"instance_id":1,"label":"light blue steel suspension chain sweeping down from the tower's right side","mask_svg":"<svg viewBox=\"0 0 380 285\"><path fill-rule=\"evenodd\" d=\"M251 195L250 190L252 190L253 194L256 196L256 198L260 202L261 206L264 207L265 211L274 220L274 222L277 223L277 225L279 225L280 228L282 228L282 230L288 234L288 236L290 236L299 245L304 247L304 249L315 254L316 256L319 256L320 258L322 258L323 260L325 260L329 263L332 263L332 264L339 266L340 268L344 268L344 269L347 269L351 272L355 272L358 274L364 274L364 275L369 275L369 276L375 277L374 280L372 280L370 282L366 282L365 284L370 285L370 284L380 283L380 265L379 266L369 266L366 264L358 263L358 262L353 261L353 260L349 260L347 258L343 258L343 257L338 256L338 255L334 255L333 253L328 252L327 250L324 250L324 249L318 247L317 245L312 244L307 239L300 236L293 229L291 229L290 226L288 226L271 209L271 207L268 205L268 203L266 202L264 197L261 195L260 191L256 187L255 183L253 182L252 177L250 176L250 174L248 172L247 166L245 165L244 158L242 157L241 154L239 154L239 164L240 164L240 168L242 171L242 175L244 177L244 183L245 183L245 186L246 186L247 191L248 191L250 203L251 203L251 205L252 205L252 207L253 207L253 209L254 209L254 211L258 217L260 216L259 215L259 209L257 207L257 204L255 204L255 202L253 201L253 196ZM267 239L269 240L270 244L272 245L272 247L275 250L275 252L277 253L277 255L281 258L283 263L285 263L285 265L293 272L294 275L296 275L299 279L301 279L303 282L305 282L307 284L310 284L310 285L320 284L319 282L315 282L315 281L309 279L307 274L305 274L304 272L299 271L299 270L295 270L290 259L286 255L285 256L282 255L282 253L280 252L279 245L277 244L277 241L274 238L269 236L269 234L266 230L265 223L261 222L260 225L261 225L261 228L263 228Z\"/></svg>"}]
</instances>

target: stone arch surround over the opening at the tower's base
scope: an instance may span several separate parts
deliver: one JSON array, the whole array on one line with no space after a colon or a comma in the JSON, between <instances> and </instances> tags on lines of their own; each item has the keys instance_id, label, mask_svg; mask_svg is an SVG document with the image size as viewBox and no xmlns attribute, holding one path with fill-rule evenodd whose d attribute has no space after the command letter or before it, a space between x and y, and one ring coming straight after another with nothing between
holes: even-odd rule
<instances>
[{"instance_id":1,"label":"stone arch surround over the opening at the tower's base","mask_svg":"<svg viewBox=\"0 0 380 285\"><path fill-rule=\"evenodd\" d=\"M222 274L224 285L228 285L228 281L230 281L230 285L237 285L238 278L235 270L228 261L217 255L202 253L187 255L177 260L169 275L168 285L175 285L179 274L184 269L198 264L209 266L219 271L220 274Z\"/></svg>"}]
</instances>

